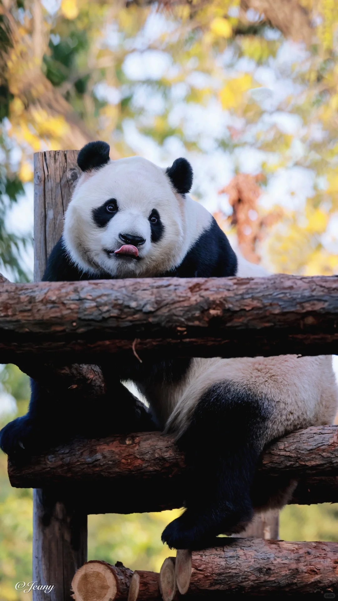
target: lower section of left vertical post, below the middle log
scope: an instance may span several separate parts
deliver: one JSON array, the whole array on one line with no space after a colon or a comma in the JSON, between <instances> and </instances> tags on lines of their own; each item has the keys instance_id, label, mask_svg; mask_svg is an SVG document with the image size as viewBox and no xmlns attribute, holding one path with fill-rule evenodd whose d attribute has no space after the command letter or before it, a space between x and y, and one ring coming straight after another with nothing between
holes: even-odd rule
<instances>
[{"instance_id":1,"label":"lower section of left vertical post, below the middle log","mask_svg":"<svg viewBox=\"0 0 338 601\"><path fill-rule=\"evenodd\" d=\"M34 490L33 507L33 582L54 585L51 601L71 601L73 575L87 559L87 514L43 490ZM37 588L32 596L46 599Z\"/></svg>"}]
</instances>

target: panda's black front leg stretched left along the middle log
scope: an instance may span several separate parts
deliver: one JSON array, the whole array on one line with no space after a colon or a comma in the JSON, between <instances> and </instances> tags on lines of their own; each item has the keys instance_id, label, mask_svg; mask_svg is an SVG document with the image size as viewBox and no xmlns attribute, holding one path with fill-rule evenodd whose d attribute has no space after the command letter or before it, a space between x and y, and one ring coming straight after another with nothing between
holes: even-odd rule
<instances>
[{"instance_id":1,"label":"panda's black front leg stretched left along the middle log","mask_svg":"<svg viewBox=\"0 0 338 601\"><path fill-rule=\"evenodd\" d=\"M93 403L75 391L47 391L31 380L28 413L0 432L0 448L19 459L48 451L75 438L103 438L116 433L153 430L155 424L134 395L112 377L108 390Z\"/></svg>"}]
</instances>

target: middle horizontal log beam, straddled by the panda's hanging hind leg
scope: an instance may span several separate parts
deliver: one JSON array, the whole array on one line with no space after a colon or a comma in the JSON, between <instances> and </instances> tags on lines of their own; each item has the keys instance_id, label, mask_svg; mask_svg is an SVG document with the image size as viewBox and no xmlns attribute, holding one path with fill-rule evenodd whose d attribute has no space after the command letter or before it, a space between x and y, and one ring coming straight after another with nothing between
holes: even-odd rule
<instances>
[{"instance_id":1,"label":"middle horizontal log beam, straddled by the panda's hanging hind leg","mask_svg":"<svg viewBox=\"0 0 338 601\"><path fill-rule=\"evenodd\" d=\"M75 441L29 463L8 459L12 486L55 488L63 499L78 495L87 513L181 507L184 474L183 454L158 432ZM262 456L257 478L263 474L299 478L291 502L337 502L338 427L298 430L275 442Z\"/></svg>"}]
</instances>

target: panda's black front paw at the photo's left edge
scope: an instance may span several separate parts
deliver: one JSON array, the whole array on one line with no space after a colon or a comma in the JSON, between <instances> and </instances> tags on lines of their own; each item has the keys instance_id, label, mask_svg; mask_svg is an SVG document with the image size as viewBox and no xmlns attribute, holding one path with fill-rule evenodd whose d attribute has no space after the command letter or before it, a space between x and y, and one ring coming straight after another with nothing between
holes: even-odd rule
<instances>
[{"instance_id":1,"label":"panda's black front paw at the photo's left edge","mask_svg":"<svg viewBox=\"0 0 338 601\"><path fill-rule=\"evenodd\" d=\"M0 432L0 448L10 457L23 457L34 447L34 423L27 415L10 421Z\"/></svg>"}]
</instances>

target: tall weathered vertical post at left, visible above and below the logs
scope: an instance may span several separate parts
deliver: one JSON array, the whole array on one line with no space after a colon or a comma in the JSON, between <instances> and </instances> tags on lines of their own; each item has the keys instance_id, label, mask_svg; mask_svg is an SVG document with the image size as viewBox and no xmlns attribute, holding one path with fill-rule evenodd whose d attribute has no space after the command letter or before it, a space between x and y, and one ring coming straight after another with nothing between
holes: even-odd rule
<instances>
[{"instance_id":1,"label":"tall weathered vertical post at left, visible above and below the logs","mask_svg":"<svg viewBox=\"0 0 338 601\"><path fill-rule=\"evenodd\" d=\"M34 281L40 281L79 177L75 150L34 154ZM46 399L48 402L48 399ZM33 494L33 581L54 585L50 601L72 601L73 576L87 561L87 514L61 502L52 490ZM33 601L46 601L33 589Z\"/></svg>"}]
</instances>

